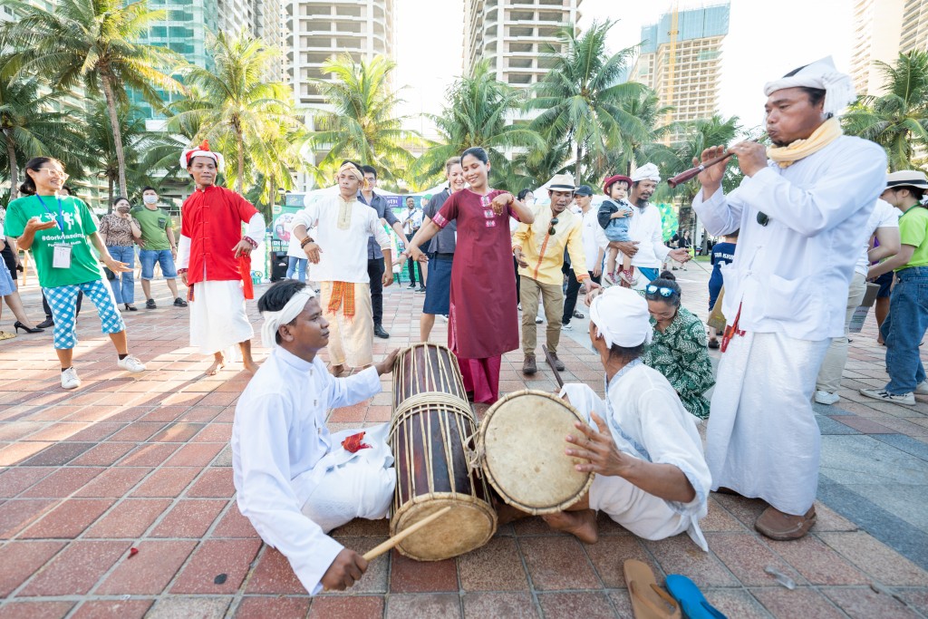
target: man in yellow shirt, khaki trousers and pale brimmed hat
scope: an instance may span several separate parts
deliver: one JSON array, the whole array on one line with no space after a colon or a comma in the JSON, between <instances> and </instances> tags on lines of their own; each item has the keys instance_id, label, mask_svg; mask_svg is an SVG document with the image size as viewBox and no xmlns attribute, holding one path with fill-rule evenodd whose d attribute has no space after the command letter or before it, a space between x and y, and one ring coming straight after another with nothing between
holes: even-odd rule
<instances>
[{"instance_id":1,"label":"man in yellow shirt, khaki trousers and pale brimmed hat","mask_svg":"<svg viewBox=\"0 0 928 619\"><path fill-rule=\"evenodd\" d=\"M522 303L522 373L535 374L535 346L538 341L535 315L538 312L538 293L541 293L548 320L548 351L554 367L564 369L558 358L558 342L561 341L561 314L564 310L563 273L564 249L571 257L574 273L581 283L586 281L586 290L599 288L589 278L586 270L586 254L583 250L583 218L567 207L574 200L574 179L569 174L555 174L548 183L550 206L535 209L535 223L520 224L512 235L512 254L519 263L520 301Z\"/></svg>"}]
</instances>

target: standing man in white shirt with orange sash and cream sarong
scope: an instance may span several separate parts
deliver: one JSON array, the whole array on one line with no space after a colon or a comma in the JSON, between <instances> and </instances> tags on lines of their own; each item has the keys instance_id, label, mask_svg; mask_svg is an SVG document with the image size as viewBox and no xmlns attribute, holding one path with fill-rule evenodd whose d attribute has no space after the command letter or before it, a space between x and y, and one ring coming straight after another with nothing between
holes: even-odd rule
<instances>
[{"instance_id":1,"label":"standing man in white shirt with orange sash and cream sarong","mask_svg":"<svg viewBox=\"0 0 928 619\"><path fill-rule=\"evenodd\" d=\"M329 362L335 376L345 366L373 363L374 311L367 275L367 239L373 236L383 251L383 286L393 283L393 251L377 212L357 200L364 174L350 161L339 170L339 194L310 201L293 217L293 234L313 264L322 307L331 323ZM307 229L316 227L317 239Z\"/></svg>"}]
</instances>

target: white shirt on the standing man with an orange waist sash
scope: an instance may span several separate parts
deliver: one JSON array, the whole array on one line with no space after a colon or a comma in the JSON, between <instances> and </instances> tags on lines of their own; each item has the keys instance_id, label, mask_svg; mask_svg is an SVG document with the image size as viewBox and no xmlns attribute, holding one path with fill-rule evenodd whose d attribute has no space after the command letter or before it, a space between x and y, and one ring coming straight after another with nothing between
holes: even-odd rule
<instances>
[{"instance_id":1,"label":"white shirt on the standing man with an orange waist sash","mask_svg":"<svg viewBox=\"0 0 928 619\"><path fill-rule=\"evenodd\" d=\"M293 227L316 227L313 237L321 250L319 264L313 264L313 279L316 281L350 281L355 284L367 284L367 239L371 235L380 245L380 250L390 250L392 245L380 218L374 209L356 197L350 202L342 196L327 196L321 200L310 201L306 196L306 207L293 217ZM350 210L347 226L339 226L342 208Z\"/></svg>"}]
</instances>

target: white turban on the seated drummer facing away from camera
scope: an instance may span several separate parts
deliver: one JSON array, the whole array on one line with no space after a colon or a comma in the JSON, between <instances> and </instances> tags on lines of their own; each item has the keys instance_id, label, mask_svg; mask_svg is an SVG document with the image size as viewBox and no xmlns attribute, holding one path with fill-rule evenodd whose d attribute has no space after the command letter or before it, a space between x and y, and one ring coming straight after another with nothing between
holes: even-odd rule
<instances>
[{"instance_id":1,"label":"white turban on the seated drummer facing away from camera","mask_svg":"<svg viewBox=\"0 0 928 619\"><path fill-rule=\"evenodd\" d=\"M593 299L589 319L610 348L613 344L623 348L649 344L654 333L648 302L635 290L621 286L612 286Z\"/></svg>"}]
</instances>

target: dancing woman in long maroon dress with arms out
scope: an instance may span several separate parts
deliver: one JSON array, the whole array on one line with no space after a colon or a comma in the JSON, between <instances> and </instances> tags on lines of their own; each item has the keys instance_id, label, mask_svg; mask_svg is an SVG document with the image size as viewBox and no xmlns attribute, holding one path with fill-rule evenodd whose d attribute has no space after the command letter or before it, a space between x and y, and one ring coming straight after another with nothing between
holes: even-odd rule
<instances>
[{"instance_id":1,"label":"dancing woman in long maroon dress with arms out","mask_svg":"<svg viewBox=\"0 0 928 619\"><path fill-rule=\"evenodd\" d=\"M502 355L519 348L509 217L531 224L535 216L509 192L488 186L490 161L483 148L465 150L461 166L470 189L445 200L432 221L409 241L405 253L420 262L428 260L419 245L457 220L448 346L458 355L464 388L473 393L474 402L493 404L499 399Z\"/></svg>"}]
</instances>

